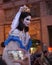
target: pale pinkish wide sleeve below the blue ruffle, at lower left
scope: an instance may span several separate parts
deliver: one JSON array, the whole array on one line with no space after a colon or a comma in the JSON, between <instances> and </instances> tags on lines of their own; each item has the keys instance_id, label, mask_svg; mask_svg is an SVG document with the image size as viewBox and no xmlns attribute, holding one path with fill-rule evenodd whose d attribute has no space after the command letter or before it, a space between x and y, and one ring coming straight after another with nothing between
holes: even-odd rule
<instances>
[{"instance_id":1,"label":"pale pinkish wide sleeve below the blue ruffle, at lower left","mask_svg":"<svg viewBox=\"0 0 52 65\"><path fill-rule=\"evenodd\" d=\"M17 50L18 48L19 48L19 46L14 41L9 42L9 44L5 46L5 48L3 50L2 59L5 60L5 62L7 63L7 65L16 65L16 63L12 62L13 59L9 58L9 56L8 56L8 50ZM19 63L17 63L17 65L18 64Z\"/></svg>"}]
</instances>

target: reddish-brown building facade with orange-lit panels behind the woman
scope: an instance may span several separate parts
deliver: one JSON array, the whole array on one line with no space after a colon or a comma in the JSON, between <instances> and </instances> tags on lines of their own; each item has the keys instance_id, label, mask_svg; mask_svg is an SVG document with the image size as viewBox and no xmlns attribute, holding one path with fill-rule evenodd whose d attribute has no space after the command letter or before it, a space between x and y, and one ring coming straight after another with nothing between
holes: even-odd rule
<instances>
[{"instance_id":1,"label":"reddish-brown building facade with orange-lit panels behind the woman","mask_svg":"<svg viewBox=\"0 0 52 65\"><path fill-rule=\"evenodd\" d=\"M31 9L32 20L29 33L33 39L38 39L52 46L52 1L51 0L0 0L0 54L1 43L8 37L10 25L22 5Z\"/></svg>"}]
</instances>

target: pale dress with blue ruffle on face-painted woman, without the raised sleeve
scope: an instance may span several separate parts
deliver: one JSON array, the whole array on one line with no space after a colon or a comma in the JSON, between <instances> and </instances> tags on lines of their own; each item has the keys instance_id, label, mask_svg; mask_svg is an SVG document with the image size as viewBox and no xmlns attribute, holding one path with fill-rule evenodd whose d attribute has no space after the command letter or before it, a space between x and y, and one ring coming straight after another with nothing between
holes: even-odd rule
<instances>
[{"instance_id":1,"label":"pale dress with blue ruffle on face-painted woman, without the raised sleeve","mask_svg":"<svg viewBox=\"0 0 52 65\"><path fill-rule=\"evenodd\" d=\"M5 40L4 44L5 48L3 50L2 58L6 61L7 65L21 65L20 63L12 62L13 59L10 59L7 53L8 50L17 50L19 48L26 50L25 55L28 56L28 60L24 61L25 65L31 65L28 50L32 45L32 41L30 39L28 32L25 34L23 33L23 31L15 29L12 33L10 33L8 38Z\"/></svg>"}]
</instances>

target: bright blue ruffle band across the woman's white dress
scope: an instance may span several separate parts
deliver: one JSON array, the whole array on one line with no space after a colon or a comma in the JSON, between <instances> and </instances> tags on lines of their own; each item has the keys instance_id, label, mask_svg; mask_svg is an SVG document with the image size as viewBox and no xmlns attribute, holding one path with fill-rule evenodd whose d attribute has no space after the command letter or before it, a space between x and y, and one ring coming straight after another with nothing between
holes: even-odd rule
<instances>
[{"instance_id":1,"label":"bright blue ruffle band across the woman's white dress","mask_svg":"<svg viewBox=\"0 0 52 65\"><path fill-rule=\"evenodd\" d=\"M25 47L25 46L23 46L22 41L20 40L20 38L18 36L11 36L11 35L9 35L9 37L5 40L4 45L5 46L8 45L8 43L10 41L17 42L17 44L20 45L20 48L25 49L26 51L28 51L30 49L31 45L32 45L31 39L29 39L28 45Z\"/></svg>"}]
</instances>

